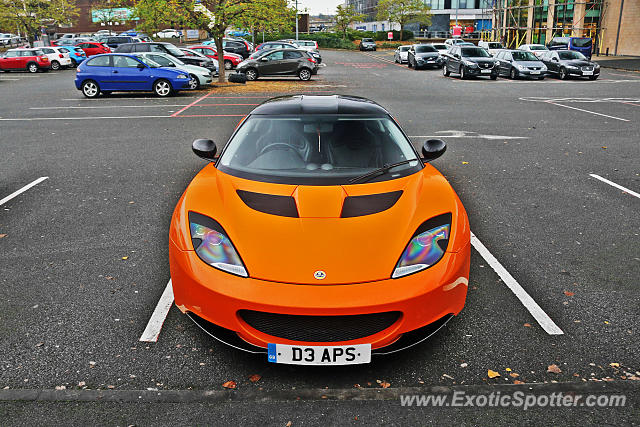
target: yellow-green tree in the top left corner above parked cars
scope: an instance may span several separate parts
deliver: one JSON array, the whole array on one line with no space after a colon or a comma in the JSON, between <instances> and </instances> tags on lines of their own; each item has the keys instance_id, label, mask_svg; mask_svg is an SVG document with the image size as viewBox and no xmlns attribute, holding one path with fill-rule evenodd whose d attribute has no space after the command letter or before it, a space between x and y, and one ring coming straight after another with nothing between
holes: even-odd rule
<instances>
[{"instance_id":1,"label":"yellow-green tree in the top left corner above parked cars","mask_svg":"<svg viewBox=\"0 0 640 427\"><path fill-rule=\"evenodd\" d=\"M24 32L29 43L42 28L71 24L77 17L73 0L0 0L0 22Z\"/></svg>"}]
</instances>

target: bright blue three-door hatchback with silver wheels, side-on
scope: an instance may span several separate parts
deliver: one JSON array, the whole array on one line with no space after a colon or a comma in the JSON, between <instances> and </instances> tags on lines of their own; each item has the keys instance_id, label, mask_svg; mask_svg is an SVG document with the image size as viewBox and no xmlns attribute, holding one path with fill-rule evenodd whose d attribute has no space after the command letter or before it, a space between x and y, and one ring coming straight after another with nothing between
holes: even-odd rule
<instances>
[{"instance_id":1,"label":"bright blue three-door hatchback with silver wheels, side-on","mask_svg":"<svg viewBox=\"0 0 640 427\"><path fill-rule=\"evenodd\" d=\"M76 73L76 88L87 98L116 91L147 91L169 96L189 89L189 73L160 65L146 58L119 53L95 55Z\"/></svg>"}]
</instances>

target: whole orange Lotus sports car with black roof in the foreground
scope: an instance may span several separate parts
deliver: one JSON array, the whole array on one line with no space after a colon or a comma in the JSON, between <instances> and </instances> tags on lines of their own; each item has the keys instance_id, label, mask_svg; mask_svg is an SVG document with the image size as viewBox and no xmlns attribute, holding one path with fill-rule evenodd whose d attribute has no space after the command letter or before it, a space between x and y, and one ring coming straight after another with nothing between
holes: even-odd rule
<instances>
[{"instance_id":1,"label":"whole orange Lotus sports car with black roof in the foreground","mask_svg":"<svg viewBox=\"0 0 640 427\"><path fill-rule=\"evenodd\" d=\"M214 338L274 363L344 365L415 345L464 306L469 220L451 185L365 98L256 107L171 220L175 302Z\"/></svg>"}]
</instances>

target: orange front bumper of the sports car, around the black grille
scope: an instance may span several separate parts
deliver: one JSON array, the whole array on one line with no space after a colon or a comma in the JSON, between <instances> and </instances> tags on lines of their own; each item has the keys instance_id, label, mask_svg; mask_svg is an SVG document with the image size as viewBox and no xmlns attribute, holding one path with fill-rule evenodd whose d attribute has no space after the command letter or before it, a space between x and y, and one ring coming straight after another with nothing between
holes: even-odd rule
<instances>
[{"instance_id":1,"label":"orange front bumper of the sports car, around the black grille","mask_svg":"<svg viewBox=\"0 0 640 427\"><path fill-rule=\"evenodd\" d=\"M349 285L298 285L234 276L205 264L194 251L169 242L176 306L220 330L232 331L251 347L269 343L347 345L380 349L463 308L469 278L470 245L446 253L433 267L399 279ZM299 316L350 316L400 312L397 321L372 335L349 341L294 341L251 327L239 312L252 310ZM201 322L201 323L202 323ZM211 333L215 335L214 333ZM415 335L415 333L413 333ZM226 342L226 341L225 341ZM237 345L236 345L237 347Z\"/></svg>"}]
</instances>

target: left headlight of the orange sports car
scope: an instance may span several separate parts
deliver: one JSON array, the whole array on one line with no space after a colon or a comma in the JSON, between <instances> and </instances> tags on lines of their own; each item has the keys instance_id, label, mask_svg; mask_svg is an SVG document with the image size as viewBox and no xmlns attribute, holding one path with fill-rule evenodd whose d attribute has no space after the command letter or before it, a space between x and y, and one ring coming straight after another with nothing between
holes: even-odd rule
<instances>
[{"instance_id":1,"label":"left headlight of the orange sports car","mask_svg":"<svg viewBox=\"0 0 640 427\"><path fill-rule=\"evenodd\" d=\"M218 270L249 277L236 248L222 226L208 216L189 212L191 242L198 257Z\"/></svg>"}]
</instances>

